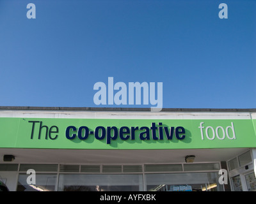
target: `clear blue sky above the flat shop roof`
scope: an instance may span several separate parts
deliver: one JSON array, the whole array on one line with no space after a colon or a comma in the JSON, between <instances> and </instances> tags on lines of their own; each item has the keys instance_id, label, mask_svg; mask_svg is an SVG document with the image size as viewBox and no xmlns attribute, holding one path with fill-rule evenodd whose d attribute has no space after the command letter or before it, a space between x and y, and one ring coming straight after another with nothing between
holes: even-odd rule
<instances>
[{"instance_id":1,"label":"clear blue sky above the flat shop roof","mask_svg":"<svg viewBox=\"0 0 256 204\"><path fill-rule=\"evenodd\" d=\"M0 0L0 76L1 106L96 106L114 77L163 82L163 108L256 108L256 1Z\"/></svg>"}]
</instances>

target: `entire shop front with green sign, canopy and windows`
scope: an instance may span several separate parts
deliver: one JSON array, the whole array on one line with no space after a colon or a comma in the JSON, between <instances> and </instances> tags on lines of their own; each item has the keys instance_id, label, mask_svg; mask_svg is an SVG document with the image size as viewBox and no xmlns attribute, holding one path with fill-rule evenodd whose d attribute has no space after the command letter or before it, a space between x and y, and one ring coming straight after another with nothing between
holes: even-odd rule
<instances>
[{"instance_id":1,"label":"entire shop front with green sign, canopy and windows","mask_svg":"<svg viewBox=\"0 0 256 204\"><path fill-rule=\"evenodd\" d=\"M256 191L255 126L255 109L1 107L0 180L10 191Z\"/></svg>"}]
</instances>

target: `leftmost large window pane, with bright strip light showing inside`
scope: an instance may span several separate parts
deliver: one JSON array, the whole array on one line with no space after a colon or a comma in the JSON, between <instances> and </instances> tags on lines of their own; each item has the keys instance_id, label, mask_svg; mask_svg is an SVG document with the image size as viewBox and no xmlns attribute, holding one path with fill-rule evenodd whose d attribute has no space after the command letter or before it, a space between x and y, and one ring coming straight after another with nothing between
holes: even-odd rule
<instances>
[{"instance_id":1,"label":"leftmost large window pane, with bright strip light showing inside","mask_svg":"<svg viewBox=\"0 0 256 204\"><path fill-rule=\"evenodd\" d=\"M35 184L27 183L29 175L20 173L17 191L54 191L57 174L36 173Z\"/></svg>"}]
</instances>

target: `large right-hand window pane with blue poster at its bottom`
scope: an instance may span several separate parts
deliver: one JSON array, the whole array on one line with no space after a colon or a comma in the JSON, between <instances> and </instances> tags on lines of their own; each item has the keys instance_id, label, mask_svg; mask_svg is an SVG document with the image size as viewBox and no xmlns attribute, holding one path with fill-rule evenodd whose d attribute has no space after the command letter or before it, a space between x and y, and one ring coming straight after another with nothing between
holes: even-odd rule
<instances>
[{"instance_id":1,"label":"large right-hand window pane with blue poster at its bottom","mask_svg":"<svg viewBox=\"0 0 256 204\"><path fill-rule=\"evenodd\" d=\"M218 172L146 174L147 191L223 191Z\"/></svg>"}]
</instances>

